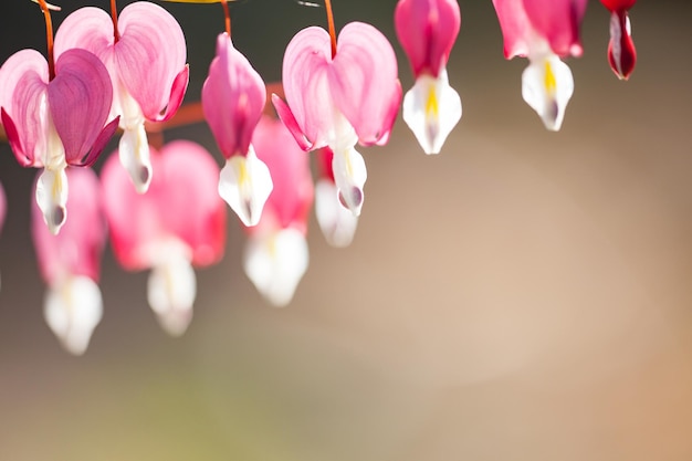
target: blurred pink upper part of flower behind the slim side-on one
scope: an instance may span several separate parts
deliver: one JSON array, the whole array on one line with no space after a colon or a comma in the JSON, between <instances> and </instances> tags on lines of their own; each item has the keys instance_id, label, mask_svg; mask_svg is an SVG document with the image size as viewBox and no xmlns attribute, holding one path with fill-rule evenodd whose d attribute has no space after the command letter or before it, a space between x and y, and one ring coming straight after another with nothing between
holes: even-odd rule
<instances>
[{"instance_id":1,"label":"blurred pink upper part of flower behind the slim side-on one","mask_svg":"<svg viewBox=\"0 0 692 461\"><path fill-rule=\"evenodd\" d=\"M273 214L280 228L292 226L307 232L314 193L310 156L293 142L281 121L269 116L260 119L252 146L272 175L273 189L262 217Z\"/></svg>"}]
</instances>

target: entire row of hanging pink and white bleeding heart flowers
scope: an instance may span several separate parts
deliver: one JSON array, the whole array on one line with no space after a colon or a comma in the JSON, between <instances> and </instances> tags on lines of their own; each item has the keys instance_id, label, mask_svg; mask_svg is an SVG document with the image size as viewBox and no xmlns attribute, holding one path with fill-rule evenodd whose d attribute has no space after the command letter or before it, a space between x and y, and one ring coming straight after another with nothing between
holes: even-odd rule
<instances>
[{"instance_id":1,"label":"entire row of hanging pink and white bleeding heart flowers","mask_svg":"<svg viewBox=\"0 0 692 461\"><path fill-rule=\"evenodd\" d=\"M608 59L620 78L636 52L628 10L635 0L601 0L611 11ZM195 2L195 1L189 1ZM336 34L306 28L283 60L282 91L268 88L227 30L201 91L201 111L224 165L198 144L150 143L147 127L170 121L189 80L176 19L149 1L117 14L84 7L67 15L48 60L22 50L0 69L0 119L18 163L41 168L33 238L49 285L45 318L72 353L86 349L102 316L99 258L106 237L130 271L150 270L147 297L161 326L188 327L193 268L217 263L228 206L248 232L244 270L274 305L287 304L307 270L310 210L327 241L350 243L365 200L366 161L356 146L388 142L399 108L426 154L441 151L461 118L447 64L461 27L457 0L399 0L396 34L415 85L402 94L387 38L364 22ZM581 54L586 0L493 0L505 57L525 56L522 94L548 129L559 129L574 80L562 61ZM272 105L268 106L268 99ZM276 117L266 115L271 108ZM119 144L101 178L88 168L116 133ZM159 143L160 144L160 143ZM316 186L305 151L318 151ZM69 195L69 185L71 193ZM0 218L4 198L0 196ZM0 220L1 221L1 220Z\"/></svg>"}]
</instances>

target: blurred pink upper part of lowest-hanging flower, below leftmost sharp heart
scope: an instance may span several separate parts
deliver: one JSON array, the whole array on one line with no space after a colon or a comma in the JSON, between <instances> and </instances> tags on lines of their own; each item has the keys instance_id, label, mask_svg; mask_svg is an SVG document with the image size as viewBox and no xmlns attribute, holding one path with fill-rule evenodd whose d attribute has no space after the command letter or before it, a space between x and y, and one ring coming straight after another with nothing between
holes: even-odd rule
<instances>
[{"instance_id":1,"label":"blurred pink upper part of lowest-hanging flower, below leftmost sharp heart","mask_svg":"<svg viewBox=\"0 0 692 461\"><path fill-rule=\"evenodd\" d=\"M66 220L57 235L45 223L36 201L31 200L31 231L41 275L53 284L69 275L98 281L101 255L106 241L98 178L90 168L67 168L70 197Z\"/></svg>"}]
</instances>

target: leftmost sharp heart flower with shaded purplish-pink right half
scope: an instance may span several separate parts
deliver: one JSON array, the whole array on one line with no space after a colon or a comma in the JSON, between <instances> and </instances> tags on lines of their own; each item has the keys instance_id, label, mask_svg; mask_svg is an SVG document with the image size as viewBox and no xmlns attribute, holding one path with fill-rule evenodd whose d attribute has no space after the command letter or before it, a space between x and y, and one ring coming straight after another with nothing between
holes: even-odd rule
<instances>
[{"instance_id":1,"label":"leftmost sharp heart flower with shaded purplish-pink right half","mask_svg":"<svg viewBox=\"0 0 692 461\"><path fill-rule=\"evenodd\" d=\"M43 168L35 188L43 220L56 234L67 210L65 168L92 165L117 128L106 125L113 91L103 63L69 50L49 63L34 50L11 55L0 69L2 125L17 161Z\"/></svg>"}]
</instances>

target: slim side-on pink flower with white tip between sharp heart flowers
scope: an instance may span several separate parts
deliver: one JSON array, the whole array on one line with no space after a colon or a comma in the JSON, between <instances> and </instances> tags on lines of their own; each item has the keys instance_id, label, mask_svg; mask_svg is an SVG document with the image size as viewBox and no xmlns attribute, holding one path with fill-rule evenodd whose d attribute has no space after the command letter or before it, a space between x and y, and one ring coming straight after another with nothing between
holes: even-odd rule
<instances>
[{"instance_id":1,"label":"slim side-on pink flower with white tip between sharp heart flowers","mask_svg":"<svg viewBox=\"0 0 692 461\"><path fill-rule=\"evenodd\" d=\"M219 195L245 226L255 226L272 191L266 165L252 147L252 133L262 116L266 88L258 72L231 42L217 38L217 55L202 86L202 108L226 165Z\"/></svg>"}]
</instances>

